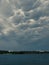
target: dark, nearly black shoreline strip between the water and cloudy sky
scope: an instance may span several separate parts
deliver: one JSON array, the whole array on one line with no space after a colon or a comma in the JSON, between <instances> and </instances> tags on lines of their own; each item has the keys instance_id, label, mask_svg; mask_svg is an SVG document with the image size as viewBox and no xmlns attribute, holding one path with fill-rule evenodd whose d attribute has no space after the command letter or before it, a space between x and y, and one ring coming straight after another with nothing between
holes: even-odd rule
<instances>
[{"instance_id":1,"label":"dark, nearly black shoreline strip between the water and cloudy sky","mask_svg":"<svg viewBox=\"0 0 49 65\"><path fill-rule=\"evenodd\" d=\"M0 54L48 54L49 51L3 51Z\"/></svg>"}]
</instances>

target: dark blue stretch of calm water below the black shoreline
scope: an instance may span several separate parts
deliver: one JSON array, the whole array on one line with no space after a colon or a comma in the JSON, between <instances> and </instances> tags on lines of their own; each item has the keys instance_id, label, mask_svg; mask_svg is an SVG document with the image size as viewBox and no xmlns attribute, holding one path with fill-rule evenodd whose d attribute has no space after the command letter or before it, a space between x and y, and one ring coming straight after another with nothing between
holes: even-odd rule
<instances>
[{"instance_id":1,"label":"dark blue stretch of calm water below the black shoreline","mask_svg":"<svg viewBox=\"0 0 49 65\"><path fill-rule=\"evenodd\" d=\"M49 65L49 54L0 54L0 65Z\"/></svg>"}]
</instances>

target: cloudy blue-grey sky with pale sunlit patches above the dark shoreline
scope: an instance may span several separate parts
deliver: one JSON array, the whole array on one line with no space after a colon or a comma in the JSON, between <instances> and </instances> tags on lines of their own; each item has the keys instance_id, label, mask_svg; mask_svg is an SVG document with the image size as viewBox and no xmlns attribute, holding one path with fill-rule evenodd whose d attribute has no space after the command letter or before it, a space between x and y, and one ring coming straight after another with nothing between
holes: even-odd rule
<instances>
[{"instance_id":1,"label":"cloudy blue-grey sky with pale sunlit patches above the dark shoreline","mask_svg":"<svg viewBox=\"0 0 49 65\"><path fill-rule=\"evenodd\" d=\"M49 50L49 0L0 0L0 50Z\"/></svg>"}]
</instances>

